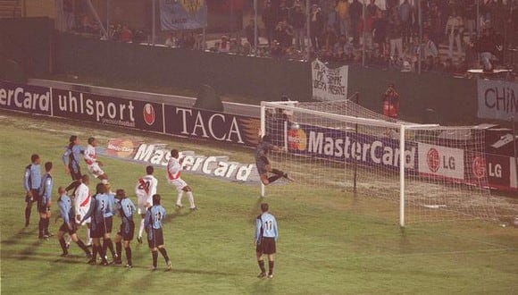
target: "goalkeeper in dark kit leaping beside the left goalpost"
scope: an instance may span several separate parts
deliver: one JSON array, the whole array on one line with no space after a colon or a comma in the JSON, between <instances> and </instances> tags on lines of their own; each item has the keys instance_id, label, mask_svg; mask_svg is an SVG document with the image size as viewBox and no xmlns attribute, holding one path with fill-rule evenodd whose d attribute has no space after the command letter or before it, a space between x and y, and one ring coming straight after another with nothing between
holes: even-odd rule
<instances>
[{"instance_id":1,"label":"goalkeeper in dark kit leaping beside the left goalpost","mask_svg":"<svg viewBox=\"0 0 518 295\"><path fill-rule=\"evenodd\" d=\"M288 176L288 173L272 168L272 164L270 164L270 160L268 160L267 157L268 153L272 150L280 151L280 147L272 144L272 138L270 135L264 135L263 140L261 140L257 147L255 147L255 165L257 166L257 172L259 172L263 184L268 185L273 181L277 181L281 177L286 178L288 181L294 181ZM269 173L273 175L268 177Z\"/></svg>"}]
</instances>

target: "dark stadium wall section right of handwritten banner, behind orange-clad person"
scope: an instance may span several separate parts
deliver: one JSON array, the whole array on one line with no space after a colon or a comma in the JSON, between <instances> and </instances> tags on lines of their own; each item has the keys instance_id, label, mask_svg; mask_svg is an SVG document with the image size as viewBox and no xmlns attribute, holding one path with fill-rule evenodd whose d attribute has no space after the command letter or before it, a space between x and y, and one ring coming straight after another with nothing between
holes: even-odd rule
<instances>
[{"instance_id":1,"label":"dark stadium wall section right of handwritten banner, behind orange-clad person","mask_svg":"<svg viewBox=\"0 0 518 295\"><path fill-rule=\"evenodd\" d=\"M444 72L417 75L349 66L349 93L359 92L360 105L373 111L381 113L381 96L388 83L394 83L401 95L400 117L405 121L441 125L480 122L475 79L456 79Z\"/></svg>"}]
</instances>

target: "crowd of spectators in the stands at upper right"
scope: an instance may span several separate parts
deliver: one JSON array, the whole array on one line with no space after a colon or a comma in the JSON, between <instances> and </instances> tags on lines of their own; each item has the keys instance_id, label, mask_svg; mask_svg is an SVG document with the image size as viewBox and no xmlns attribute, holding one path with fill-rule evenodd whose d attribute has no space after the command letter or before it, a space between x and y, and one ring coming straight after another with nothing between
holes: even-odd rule
<instances>
[{"instance_id":1,"label":"crowd of spectators in the stands at upper right","mask_svg":"<svg viewBox=\"0 0 518 295\"><path fill-rule=\"evenodd\" d=\"M358 0L310 3L308 18L305 1L266 0L261 33L267 46L256 54L304 59L309 50L326 62L365 62L407 72L416 71L421 58L422 71L465 72L479 61L491 70L495 65L488 60L502 64L505 49L518 46L516 0L483 0L478 9L476 0L423 0L422 38L417 1L386 0L383 7L376 0L365 6ZM254 47L253 21L245 34L245 45L230 44L230 52Z\"/></svg>"}]
</instances>

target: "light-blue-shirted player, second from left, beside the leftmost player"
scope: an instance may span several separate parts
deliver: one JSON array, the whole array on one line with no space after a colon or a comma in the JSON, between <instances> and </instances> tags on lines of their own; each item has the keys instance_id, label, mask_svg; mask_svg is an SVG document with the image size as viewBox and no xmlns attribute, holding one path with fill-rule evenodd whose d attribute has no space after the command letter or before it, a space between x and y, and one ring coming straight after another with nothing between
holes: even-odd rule
<instances>
[{"instance_id":1,"label":"light-blue-shirted player, second from left, beside the leftmost player","mask_svg":"<svg viewBox=\"0 0 518 295\"><path fill-rule=\"evenodd\" d=\"M52 236L48 232L48 224L50 223L50 206L52 204L52 162L46 162L45 164L46 174L41 179L41 186L39 188L39 199L38 199L38 212L39 212L39 239L48 239Z\"/></svg>"}]
</instances>

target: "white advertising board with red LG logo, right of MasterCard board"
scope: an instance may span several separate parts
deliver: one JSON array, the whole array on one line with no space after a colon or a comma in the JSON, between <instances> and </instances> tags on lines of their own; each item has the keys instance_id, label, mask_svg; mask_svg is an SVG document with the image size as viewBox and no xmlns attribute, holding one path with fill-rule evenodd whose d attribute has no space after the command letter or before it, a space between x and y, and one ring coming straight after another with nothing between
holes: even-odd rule
<instances>
[{"instance_id":1,"label":"white advertising board with red LG logo, right of MasterCard board","mask_svg":"<svg viewBox=\"0 0 518 295\"><path fill-rule=\"evenodd\" d=\"M464 181L464 150L419 143L419 173Z\"/></svg>"}]
</instances>

